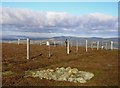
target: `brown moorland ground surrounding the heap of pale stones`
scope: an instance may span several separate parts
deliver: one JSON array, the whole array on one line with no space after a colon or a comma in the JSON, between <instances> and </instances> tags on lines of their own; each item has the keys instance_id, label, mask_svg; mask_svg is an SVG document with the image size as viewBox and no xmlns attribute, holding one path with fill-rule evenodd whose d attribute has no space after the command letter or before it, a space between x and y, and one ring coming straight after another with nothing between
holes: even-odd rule
<instances>
[{"instance_id":1,"label":"brown moorland ground surrounding the heap of pale stones","mask_svg":"<svg viewBox=\"0 0 120 88\"><path fill-rule=\"evenodd\" d=\"M51 47L51 57L48 57L48 47L30 45L31 56L26 59L26 45L2 44L2 85L3 86L116 86L118 85L118 51L91 50L70 47L66 54L64 46ZM26 77L25 71L56 67L78 68L81 71L94 73L87 83L72 83Z\"/></svg>"}]
</instances>

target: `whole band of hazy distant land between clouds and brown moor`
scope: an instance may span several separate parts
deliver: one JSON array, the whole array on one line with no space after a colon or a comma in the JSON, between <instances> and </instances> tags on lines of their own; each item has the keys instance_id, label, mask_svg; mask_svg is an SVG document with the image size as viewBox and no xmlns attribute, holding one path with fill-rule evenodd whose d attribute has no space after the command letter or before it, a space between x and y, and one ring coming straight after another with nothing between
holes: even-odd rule
<instances>
[{"instance_id":1,"label":"whole band of hazy distant land between clouds and brown moor","mask_svg":"<svg viewBox=\"0 0 120 88\"><path fill-rule=\"evenodd\" d=\"M20 38L21 40L26 40L27 38L30 38L33 43L39 43L40 40L46 41L46 40L51 40L51 41L62 41L64 42L66 39L69 39L70 43L72 45L76 45L76 41L79 42L79 45L84 46L85 45L85 40L88 40L88 45L90 46L91 42L96 43L97 41L100 41L100 45L105 45L105 43L108 43L108 46L110 46L110 41L114 42L114 47L118 47L118 38L100 38L100 37L74 37L74 36L55 36L51 38L45 38L45 37L28 37L28 36L11 36L11 37L3 37L2 42L15 42L17 39ZM26 41L24 41L26 43Z\"/></svg>"}]
</instances>

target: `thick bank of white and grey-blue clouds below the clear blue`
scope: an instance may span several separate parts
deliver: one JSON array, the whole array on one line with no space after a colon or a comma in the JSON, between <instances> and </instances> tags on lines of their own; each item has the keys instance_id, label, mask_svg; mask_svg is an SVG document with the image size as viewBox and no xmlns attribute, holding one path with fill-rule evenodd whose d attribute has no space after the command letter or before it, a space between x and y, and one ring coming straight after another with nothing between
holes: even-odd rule
<instances>
[{"instance_id":1,"label":"thick bank of white and grey-blue clouds below the clear blue","mask_svg":"<svg viewBox=\"0 0 120 88\"><path fill-rule=\"evenodd\" d=\"M2 15L1 15L2 14ZM53 33L75 36L117 36L118 18L102 13L74 16L66 12L43 12L30 9L1 8L0 24L7 31ZM10 32L9 32L10 35ZM32 35L31 35L32 36Z\"/></svg>"}]
</instances>

